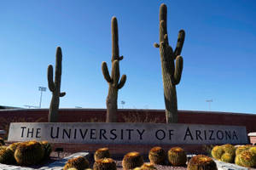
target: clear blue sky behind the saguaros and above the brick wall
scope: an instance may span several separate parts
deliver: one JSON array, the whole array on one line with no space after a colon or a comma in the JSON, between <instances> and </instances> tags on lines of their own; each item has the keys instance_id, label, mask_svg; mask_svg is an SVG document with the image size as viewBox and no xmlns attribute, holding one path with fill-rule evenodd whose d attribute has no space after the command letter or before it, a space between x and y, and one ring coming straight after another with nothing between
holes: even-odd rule
<instances>
[{"instance_id":1,"label":"clear blue sky behind the saguaros and above the brick wall","mask_svg":"<svg viewBox=\"0 0 256 170\"><path fill-rule=\"evenodd\" d=\"M160 70L159 8L168 8L172 48L186 31L179 110L256 113L256 1L39 0L0 2L0 105L38 105L47 67L61 46L61 108L106 108L111 67L111 18L119 23L119 90L124 108L165 109ZM49 107L51 93L43 94Z\"/></svg>"}]
</instances>

